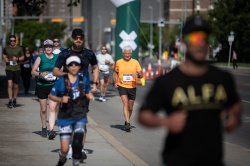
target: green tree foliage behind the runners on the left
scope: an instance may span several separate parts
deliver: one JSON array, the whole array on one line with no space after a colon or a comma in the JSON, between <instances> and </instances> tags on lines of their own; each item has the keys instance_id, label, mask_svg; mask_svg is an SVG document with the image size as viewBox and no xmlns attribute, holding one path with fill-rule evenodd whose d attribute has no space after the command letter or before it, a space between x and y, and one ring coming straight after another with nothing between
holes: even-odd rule
<instances>
[{"instance_id":1,"label":"green tree foliage behind the runners on the left","mask_svg":"<svg viewBox=\"0 0 250 166\"><path fill-rule=\"evenodd\" d=\"M53 39L53 37L63 38L65 23L55 23L46 21L44 23L37 23L34 21L22 21L15 26L15 33L24 33L22 45L28 46L30 50L36 49L36 39L41 40L41 47L43 41L46 39ZM10 34L8 34L9 36ZM19 42L20 43L20 42Z\"/></svg>"}]
</instances>

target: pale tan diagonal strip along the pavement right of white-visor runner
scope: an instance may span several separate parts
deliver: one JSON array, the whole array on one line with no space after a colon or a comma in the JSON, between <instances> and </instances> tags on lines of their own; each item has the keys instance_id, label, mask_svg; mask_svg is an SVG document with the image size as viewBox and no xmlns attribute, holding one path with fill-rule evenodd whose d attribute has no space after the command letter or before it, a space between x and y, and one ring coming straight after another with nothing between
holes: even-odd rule
<instances>
[{"instance_id":1,"label":"pale tan diagonal strip along the pavement right of white-visor runner","mask_svg":"<svg viewBox=\"0 0 250 166\"><path fill-rule=\"evenodd\" d=\"M107 131L98 127L98 123L96 123L90 116L88 116L89 124L93 125L93 128L107 140L107 142L112 145L118 152L120 152L126 159L128 159L135 166L148 166L141 158L139 158L136 154L131 152L125 146L123 146L114 136L112 136ZM97 127L95 127L97 126Z\"/></svg>"}]
</instances>

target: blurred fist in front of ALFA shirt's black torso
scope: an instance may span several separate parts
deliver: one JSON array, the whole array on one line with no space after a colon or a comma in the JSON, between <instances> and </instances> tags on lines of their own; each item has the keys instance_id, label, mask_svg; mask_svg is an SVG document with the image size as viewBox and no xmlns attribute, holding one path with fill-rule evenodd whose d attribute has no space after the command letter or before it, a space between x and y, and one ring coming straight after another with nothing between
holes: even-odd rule
<instances>
[{"instance_id":1,"label":"blurred fist in front of ALFA shirt's black torso","mask_svg":"<svg viewBox=\"0 0 250 166\"><path fill-rule=\"evenodd\" d=\"M169 132L178 134L183 131L187 120L186 111L173 112L166 117L164 126L166 126Z\"/></svg>"}]
</instances>

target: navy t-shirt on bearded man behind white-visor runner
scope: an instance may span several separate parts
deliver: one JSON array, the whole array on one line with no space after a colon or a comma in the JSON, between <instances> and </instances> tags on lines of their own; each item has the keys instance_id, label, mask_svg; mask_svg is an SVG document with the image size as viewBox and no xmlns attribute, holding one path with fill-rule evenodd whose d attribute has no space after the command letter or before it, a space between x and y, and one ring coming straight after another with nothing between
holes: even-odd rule
<instances>
[{"instance_id":1,"label":"navy t-shirt on bearded man behind white-visor runner","mask_svg":"<svg viewBox=\"0 0 250 166\"><path fill-rule=\"evenodd\" d=\"M84 52L86 51L86 57L84 56ZM89 72L88 72L88 66L91 64L91 66L94 66L97 64L96 56L92 50L88 50L84 48L81 52L75 52L72 50L72 48L69 49L64 49L62 52L60 52L55 66L57 68L61 68L62 66L65 65L66 58L70 55L70 52L79 55L82 61L82 64L84 64L84 67L79 70L79 73L83 76L86 76L89 79ZM64 66L64 70L68 72L67 68Z\"/></svg>"}]
</instances>

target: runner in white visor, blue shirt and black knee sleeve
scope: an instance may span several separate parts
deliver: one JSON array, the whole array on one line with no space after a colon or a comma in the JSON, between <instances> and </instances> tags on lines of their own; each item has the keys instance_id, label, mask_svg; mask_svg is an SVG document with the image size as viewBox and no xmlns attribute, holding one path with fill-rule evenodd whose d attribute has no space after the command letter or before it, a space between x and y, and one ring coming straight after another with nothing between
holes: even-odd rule
<instances>
[{"instance_id":1,"label":"runner in white visor, blue shirt and black knee sleeve","mask_svg":"<svg viewBox=\"0 0 250 166\"><path fill-rule=\"evenodd\" d=\"M90 83L87 77L79 76L81 60L78 56L66 59L68 74L60 77L52 88L49 98L61 102L57 125L61 140L59 161L57 166L63 166L69 150L71 135L73 136L73 166L78 166L82 159L82 140L87 121L87 100L93 100Z\"/></svg>"}]
</instances>

